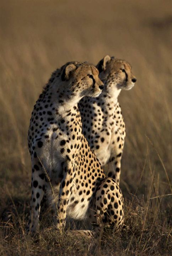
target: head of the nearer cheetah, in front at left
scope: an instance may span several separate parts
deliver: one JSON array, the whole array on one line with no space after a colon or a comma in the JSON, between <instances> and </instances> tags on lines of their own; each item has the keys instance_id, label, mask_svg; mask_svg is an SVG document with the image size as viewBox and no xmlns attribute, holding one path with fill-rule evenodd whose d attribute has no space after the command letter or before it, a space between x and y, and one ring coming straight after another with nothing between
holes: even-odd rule
<instances>
[{"instance_id":1,"label":"head of the nearer cheetah, in front at left","mask_svg":"<svg viewBox=\"0 0 172 256\"><path fill-rule=\"evenodd\" d=\"M98 97L103 89L97 68L87 62L69 62L62 67L61 80L70 96Z\"/></svg>"}]
</instances>

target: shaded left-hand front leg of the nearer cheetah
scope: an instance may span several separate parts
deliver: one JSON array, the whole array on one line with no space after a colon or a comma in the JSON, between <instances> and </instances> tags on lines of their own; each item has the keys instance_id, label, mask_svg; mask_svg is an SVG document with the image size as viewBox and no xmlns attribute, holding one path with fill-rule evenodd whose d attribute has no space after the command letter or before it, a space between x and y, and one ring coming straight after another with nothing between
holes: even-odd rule
<instances>
[{"instance_id":1,"label":"shaded left-hand front leg of the nearer cheetah","mask_svg":"<svg viewBox=\"0 0 172 256\"><path fill-rule=\"evenodd\" d=\"M41 208L41 200L45 190L45 175L42 165L39 161L32 163L32 197L30 206L30 216L28 223L28 231L32 234L38 229L39 213Z\"/></svg>"}]
</instances>

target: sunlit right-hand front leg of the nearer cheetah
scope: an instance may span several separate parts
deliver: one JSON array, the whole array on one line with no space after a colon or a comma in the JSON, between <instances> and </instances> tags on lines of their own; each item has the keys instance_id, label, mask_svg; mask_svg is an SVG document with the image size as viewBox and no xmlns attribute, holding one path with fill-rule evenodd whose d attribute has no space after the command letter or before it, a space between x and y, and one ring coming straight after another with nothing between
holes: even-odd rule
<instances>
[{"instance_id":1,"label":"sunlit right-hand front leg of the nearer cheetah","mask_svg":"<svg viewBox=\"0 0 172 256\"><path fill-rule=\"evenodd\" d=\"M59 190L59 198L58 198L58 207L53 204L54 212L54 225L57 229L62 232L65 227L66 222L66 211L69 204L69 199L72 191L73 186L73 176L74 172L72 168L65 167L63 179L60 183L60 190Z\"/></svg>"}]
</instances>

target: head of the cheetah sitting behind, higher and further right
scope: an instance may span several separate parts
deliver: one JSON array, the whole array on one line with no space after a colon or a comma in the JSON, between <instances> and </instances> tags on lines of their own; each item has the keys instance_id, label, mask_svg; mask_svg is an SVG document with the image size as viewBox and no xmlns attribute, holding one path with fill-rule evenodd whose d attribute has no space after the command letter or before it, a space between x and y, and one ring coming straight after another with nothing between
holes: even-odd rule
<instances>
[{"instance_id":1,"label":"head of the cheetah sitting behind, higher and further right","mask_svg":"<svg viewBox=\"0 0 172 256\"><path fill-rule=\"evenodd\" d=\"M130 90L136 82L131 72L131 66L125 60L116 59L106 55L97 64L100 79L109 86L116 86L117 89Z\"/></svg>"}]
</instances>

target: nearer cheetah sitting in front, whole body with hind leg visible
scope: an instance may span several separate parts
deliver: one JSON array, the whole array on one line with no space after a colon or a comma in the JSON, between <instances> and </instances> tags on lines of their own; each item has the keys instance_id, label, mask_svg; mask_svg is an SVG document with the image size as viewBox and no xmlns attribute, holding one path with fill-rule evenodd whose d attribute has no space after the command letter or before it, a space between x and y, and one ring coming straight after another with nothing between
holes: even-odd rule
<instances>
[{"instance_id":1,"label":"nearer cheetah sitting in front, whole body with hind leg visible","mask_svg":"<svg viewBox=\"0 0 172 256\"><path fill-rule=\"evenodd\" d=\"M113 178L106 178L82 134L77 107L82 97L98 97L102 89L95 66L69 62L52 74L34 105L28 130L32 159L31 233L38 228L44 192L52 194L52 187L59 188L57 207L53 203L58 230L63 231L67 217L87 219L91 224L100 220L117 227L123 224L122 193Z\"/></svg>"}]
</instances>

